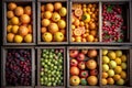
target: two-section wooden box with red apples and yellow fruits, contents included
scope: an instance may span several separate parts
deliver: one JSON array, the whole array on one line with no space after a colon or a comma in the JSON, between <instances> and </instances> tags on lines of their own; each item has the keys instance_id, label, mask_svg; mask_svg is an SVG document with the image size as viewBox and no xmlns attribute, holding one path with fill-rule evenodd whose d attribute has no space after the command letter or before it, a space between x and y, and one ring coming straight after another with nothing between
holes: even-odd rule
<instances>
[{"instance_id":1,"label":"two-section wooden box with red apples and yellow fruits, contents included","mask_svg":"<svg viewBox=\"0 0 132 88\"><path fill-rule=\"evenodd\" d=\"M114 53L118 59L112 59L110 57L110 52ZM131 88L131 47L67 47L67 87ZM106 57L109 57L110 59L106 61ZM121 61L119 61L119 58L121 58ZM110 67L110 70L106 69L107 67L103 66L106 64L108 65L108 67ZM120 66L122 66L121 70L123 72L119 74ZM113 74L111 73L111 70L113 72ZM107 75L105 75L105 73L107 73ZM118 81L117 75L119 76L119 78L121 78L120 81Z\"/></svg>"}]
</instances>

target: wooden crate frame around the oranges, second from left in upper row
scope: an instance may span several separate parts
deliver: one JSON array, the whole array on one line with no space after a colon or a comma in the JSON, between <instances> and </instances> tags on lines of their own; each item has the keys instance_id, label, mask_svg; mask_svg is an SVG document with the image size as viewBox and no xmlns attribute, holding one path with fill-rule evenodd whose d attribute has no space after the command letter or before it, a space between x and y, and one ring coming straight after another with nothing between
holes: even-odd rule
<instances>
[{"instance_id":1,"label":"wooden crate frame around the oranges, second from left in upper row","mask_svg":"<svg viewBox=\"0 0 132 88\"><path fill-rule=\"evenodd\" d=\"M42 3L54 3L54 2L63 2L64 6L67 8L67 15L66 15L66 42L43 42L42 34L41 34L41 4ZM37 44L38 45L67 45L68 44L68 0L38 0L37 1Z\"/></svg>"}]
</instances>

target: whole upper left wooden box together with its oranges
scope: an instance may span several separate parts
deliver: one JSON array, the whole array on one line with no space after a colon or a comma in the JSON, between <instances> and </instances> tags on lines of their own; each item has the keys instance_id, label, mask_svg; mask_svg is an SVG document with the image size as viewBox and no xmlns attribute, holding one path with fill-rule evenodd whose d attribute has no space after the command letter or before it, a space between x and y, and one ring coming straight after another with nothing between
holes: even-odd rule
<instances>
[{"instance_id":1,"label":"whole upper left wooden box together with its oranges","mask_svg":"<svg viewBox=\"0 0 132 88\"><path fill-rule=\"evenodd\" d=\"M3 45L35 45L35 0L3 0L2 7Z\"/></svg>"}]
</instances>

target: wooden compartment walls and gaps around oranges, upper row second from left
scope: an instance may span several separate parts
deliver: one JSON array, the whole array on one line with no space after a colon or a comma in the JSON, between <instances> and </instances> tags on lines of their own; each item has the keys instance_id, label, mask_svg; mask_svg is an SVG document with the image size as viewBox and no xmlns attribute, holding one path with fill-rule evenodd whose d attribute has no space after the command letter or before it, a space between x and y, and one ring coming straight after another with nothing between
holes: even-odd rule
<instances>
[{"instance_id":1,"label":"wooden compartment walls and gaps around oranges, upper row second from left","mask_svg":"<svg viewBox=\"0 0 132 88\"><path fill-rule=\"evenodd\" d=\"M41 12L41 6L43 6L43 4L46 4L46 3L55 3L55 2L62 2L63 3L63 7L65 7L67 10L67 14L64 16L64 20L65 20L65 22L66 22L66 28L64 28L64 30L65 30L65 32L64 31L61 31L62 29L61 28L58 28L58 32L61 31L61 32L64 32L65 34L64 34L64 36L65 36L65 38L64 38L64 41L63 42L56 42L56 41L54 41L53 38L52 38L52 41L51 42L44 42L43 40L42 40L42 34L44 34L43 32L41 32L41 28L42 28L42 19L41 19L41 14L42 14L42 12ZM38 45L45 45L45 44L48 44L48 45L54 45L54 44L56 44L56 45L61 45L61 44L68 44L68 9L69 9L69 7L68 7L68 0L48 0L48 1L46 1L46 0L38 0L37 1L37 44ZM55 11L53 11L53 12L55 12ZM56 12L58 12L58 11L56 11ZM44 18L43 18L44 19ZM62 16L61 16L61 19L62 19ZM50 21L52 21L52 18L51 19L48 19ZM54 21L52 21L53 23L56 23L57 24L57 22L54 22ZM46 30L47 30L47 32L48 32L48 25L47 26L43 26L43 28L46 28ZM51 31L52 32L52 31ZM51 33L52 34L52 36L54 35L53 33ZM54 36L53 36L54 37Z\"/></svg>"}]
</instances>

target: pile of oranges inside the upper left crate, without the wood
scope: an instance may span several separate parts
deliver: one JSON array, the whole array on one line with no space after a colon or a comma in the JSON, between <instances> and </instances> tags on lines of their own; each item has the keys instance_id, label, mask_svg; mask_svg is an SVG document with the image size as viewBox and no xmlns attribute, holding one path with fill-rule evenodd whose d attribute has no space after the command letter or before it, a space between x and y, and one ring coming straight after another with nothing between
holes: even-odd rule
<instances>
[{"instance_id":1,"label":"pile of oranges inside the upper left crate, without the wood","mask_svg":"<svg viewBox=\"0 0 132 88\"><path fill-rule=\"evenodd\" d=\"M9 43L32 42L32 9L31 6L8 4L7 41Z\"/></svg>"}]
</instances>

